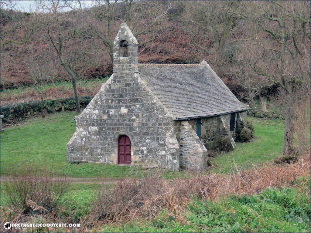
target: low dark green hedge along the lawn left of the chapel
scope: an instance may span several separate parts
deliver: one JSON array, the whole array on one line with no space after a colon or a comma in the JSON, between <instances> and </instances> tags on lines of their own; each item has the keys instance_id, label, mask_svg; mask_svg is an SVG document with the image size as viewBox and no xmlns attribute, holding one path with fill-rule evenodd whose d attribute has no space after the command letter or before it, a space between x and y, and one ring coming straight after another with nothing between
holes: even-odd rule
<instances>
[{"instance_id":1,"label":"low dark green hedge along the lawn left of the chapel","mask_svg":"<svg viewBox=\"0 0 311 233\"><path fill-rule=\"evenodd\" d=\"M86 107L94 96L82 96L79 97L80 107ZM73 97L61 98L61 99L47 99L43 101L44 112L52 113L56 111L62 111L62 106L65 110L76 109L76 101ZM2 120L16 119L25 117L28 112L30 114L41 113L41 101L29 101L26 103L12 103L0 106L1 115L4 115Z\"/></svg>"}]
</instances>

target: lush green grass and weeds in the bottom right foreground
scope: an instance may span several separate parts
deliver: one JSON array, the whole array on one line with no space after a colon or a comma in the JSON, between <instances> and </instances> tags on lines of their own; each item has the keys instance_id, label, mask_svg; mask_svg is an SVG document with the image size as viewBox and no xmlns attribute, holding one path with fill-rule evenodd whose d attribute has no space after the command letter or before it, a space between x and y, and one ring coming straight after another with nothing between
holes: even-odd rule
<instances>
[{"instance_id":1,"label":"lush green grass and weeds in the bottom right foreground","mask_svg":"<svg viewBox=\"0 0 311 233\"><path fill-rule=\"evenodd\" d=\"M267 188L259 195L218 202L193 198L181 212L187 223L162 212L156 219L105 225L103 232L309 232L310 178L306 190Z\"/></svg>"}]
</instances>

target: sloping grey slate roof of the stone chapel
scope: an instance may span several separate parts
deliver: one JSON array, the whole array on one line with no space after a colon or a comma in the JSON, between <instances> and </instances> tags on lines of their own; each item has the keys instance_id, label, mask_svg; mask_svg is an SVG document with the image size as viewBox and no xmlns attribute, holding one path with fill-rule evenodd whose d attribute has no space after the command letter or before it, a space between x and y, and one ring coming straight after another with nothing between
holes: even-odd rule
<instances>
[{"instance_id":1,"label":"sloping grey slate roof of the stone chapel","mask_svg":"<svg viewBox=\"0 0 311 233\"><path fill-rule=\"evenodd\" d=\"M176 120L248 109L205 61L201 64L138 64L139 77Z\"/></svg>"}]
</instances>

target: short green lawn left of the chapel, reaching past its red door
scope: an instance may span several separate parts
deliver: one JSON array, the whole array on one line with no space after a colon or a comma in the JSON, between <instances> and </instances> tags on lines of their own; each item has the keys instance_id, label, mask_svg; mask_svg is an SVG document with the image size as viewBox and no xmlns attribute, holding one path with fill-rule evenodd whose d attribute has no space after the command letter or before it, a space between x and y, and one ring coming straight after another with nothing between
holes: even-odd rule
<instances>
[{"instance_id":1,"label":"short green lawn left of the chapel, reaching past its red door","mask_svg":"<svg viewBox=\"0 0 311 233\"><path fill-rule=\"evenodd\" d=\"M22 169L28 162L48 163L51 172L72 177L127 177L143 170L141 167L68 163L66 144L76 130L76 122L72 120L76 115L76 112L61 112L45 118L35 117L22 126L1 132L1 174L11 167Z\"/></svg>"}]
</instances>

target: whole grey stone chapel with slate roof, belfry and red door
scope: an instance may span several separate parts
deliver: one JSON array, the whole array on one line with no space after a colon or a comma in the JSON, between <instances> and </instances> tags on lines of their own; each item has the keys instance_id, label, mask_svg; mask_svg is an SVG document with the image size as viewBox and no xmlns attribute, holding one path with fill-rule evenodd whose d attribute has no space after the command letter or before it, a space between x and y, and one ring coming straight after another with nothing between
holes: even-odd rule
<instances>
[{"instance_id":1,"label":"whole grey stone chapel with slate roof, belfry and red door","mask_svg":"<svg viewBox=\"0 0 311 233\"><path fill-rule=\"evenodd\" d=\"M75 118L68 162L201 169L221 137L244 127L241 103L205 60L139 64L137 39L122 23L113 74Z\"/></svg>"}]
</instances>

